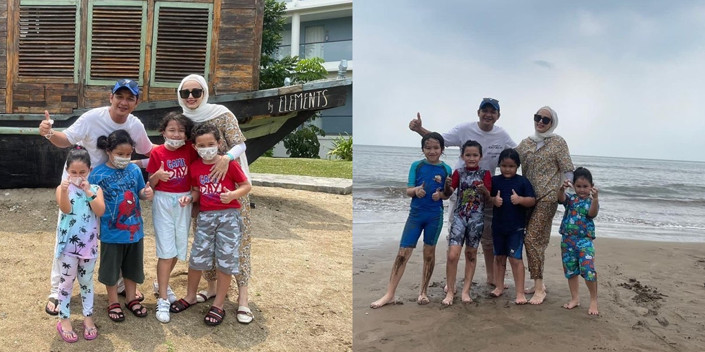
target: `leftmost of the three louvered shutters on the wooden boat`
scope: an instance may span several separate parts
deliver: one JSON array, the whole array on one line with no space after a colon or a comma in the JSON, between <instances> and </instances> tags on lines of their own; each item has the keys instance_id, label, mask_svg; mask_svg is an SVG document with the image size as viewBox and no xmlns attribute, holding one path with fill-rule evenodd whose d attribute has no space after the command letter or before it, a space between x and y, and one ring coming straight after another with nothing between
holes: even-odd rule
<instances>
[{"instance_id":1,"label":"leftmost of the three louvered shutters on the wooden boat","mask_svg":"<svg viewBox=\"0 0 705 352\"><path fill-rule=\"evenodd\" d=\"M18 78L78 80L76 1L20 2Z\"/></svg>"}]
</instances>

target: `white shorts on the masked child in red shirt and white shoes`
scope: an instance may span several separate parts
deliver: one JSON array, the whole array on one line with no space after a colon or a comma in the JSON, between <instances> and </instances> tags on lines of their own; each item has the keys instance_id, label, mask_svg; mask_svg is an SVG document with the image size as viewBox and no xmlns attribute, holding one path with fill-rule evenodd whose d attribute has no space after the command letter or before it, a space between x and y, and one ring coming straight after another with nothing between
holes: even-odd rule
<instances>
[{"instance_id":1,"label":"white shorts on the masked child in red shirt and white shoes","mask_svg":"<svg viewBox=\"0 0 705 352\"><path fill-rule=\"evenodd\" d=\"M191 192L171 193L154 191L152 222L157 244L157 258L186 260L188 232L191 227L192 205L181 207L178 199Z\"/></svg>"}]
</instances>

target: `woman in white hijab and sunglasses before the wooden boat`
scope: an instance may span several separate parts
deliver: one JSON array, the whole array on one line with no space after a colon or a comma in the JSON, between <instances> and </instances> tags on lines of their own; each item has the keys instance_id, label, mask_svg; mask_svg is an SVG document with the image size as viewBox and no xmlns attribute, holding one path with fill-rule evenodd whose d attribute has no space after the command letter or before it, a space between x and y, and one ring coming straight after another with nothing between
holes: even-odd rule
<instances>
[{"instance_id":1,"label":"woman in white hijab and sunglasses before the wooden boat","mask_svg":"<svg viewBox=\"0 0 705 352\"><path fill-rule=\"evenodd\" d=\"M188 75L179 84L177 92L178 103L183 108L183 114L195 122L195 126L209 123L221 133L222 141L219 153L223 158L211 169L211 176L222 179L228 170L228 163L237 160L250 180L250 169L245 156L245 136L240 131L238 119L225 106L208 103L208 83L200 75ZM238 282L238 322L252 322L252 310L248 308L247 281L250 279L250 199L248 196L238 199L242 208L243 234L240 243L240 273L235 275ZM195 223L195 222L194 222ZM215 296L216 270L203 272L208 282L208 289L199 291L197 301L204 302Z\"/></svg>"}]
</instances>

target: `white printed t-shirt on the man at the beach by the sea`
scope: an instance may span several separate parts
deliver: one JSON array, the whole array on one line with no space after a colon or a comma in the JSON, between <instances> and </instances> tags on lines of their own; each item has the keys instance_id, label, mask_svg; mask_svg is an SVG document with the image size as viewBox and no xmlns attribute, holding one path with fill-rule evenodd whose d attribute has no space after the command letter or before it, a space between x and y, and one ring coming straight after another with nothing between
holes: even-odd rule
<instances>
[{"instance_id":1,"label":"white printed t-shirt on the man at the beach by the sea","mask_svg":"<svg viewBox=\"0 0 705 352\"><path fill-rule=\"evenodd\" d=\"M479 162L480 168L489 170L495 174L499 161L499 154L507 148L516 148L517 144L509 137L509 134L502 128L495 125L490 132L480 130L477 122L465 122L453 127L450 131L442 133L445 146L462 146L468 139L479 142L482 146L482 160ZM458 157L453 170L462 168L465 161L462 156Z\"/></svg>"}]
</instances>

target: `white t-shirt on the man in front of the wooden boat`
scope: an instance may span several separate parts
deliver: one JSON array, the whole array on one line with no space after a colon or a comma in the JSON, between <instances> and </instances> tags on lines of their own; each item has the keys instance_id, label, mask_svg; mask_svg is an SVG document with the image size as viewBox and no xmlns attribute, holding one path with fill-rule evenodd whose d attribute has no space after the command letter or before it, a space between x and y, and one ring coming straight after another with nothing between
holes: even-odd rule
<instances>
[{"instance_id":1,"label":"white t-shirt on the man in front of the wooden boat","mask_svg":"<svg viewBox=\"0 0 705 352\"><path fill-rule=\"evenodd\" d=\"M116 130L126 130L130 134L130 137L135 141L137 153L144 154L152 151L152 141L149 140L142 121L130 114L125 123L117 123L110 118L109 106L86 111L73 122L73 125L63 130L63 133L66 134L69 143L85 146L90 154L91 166L96 167L108 161L108 155L105 151L96 146L98 137L108 137Z\"/></svg>"}]
</instances>

